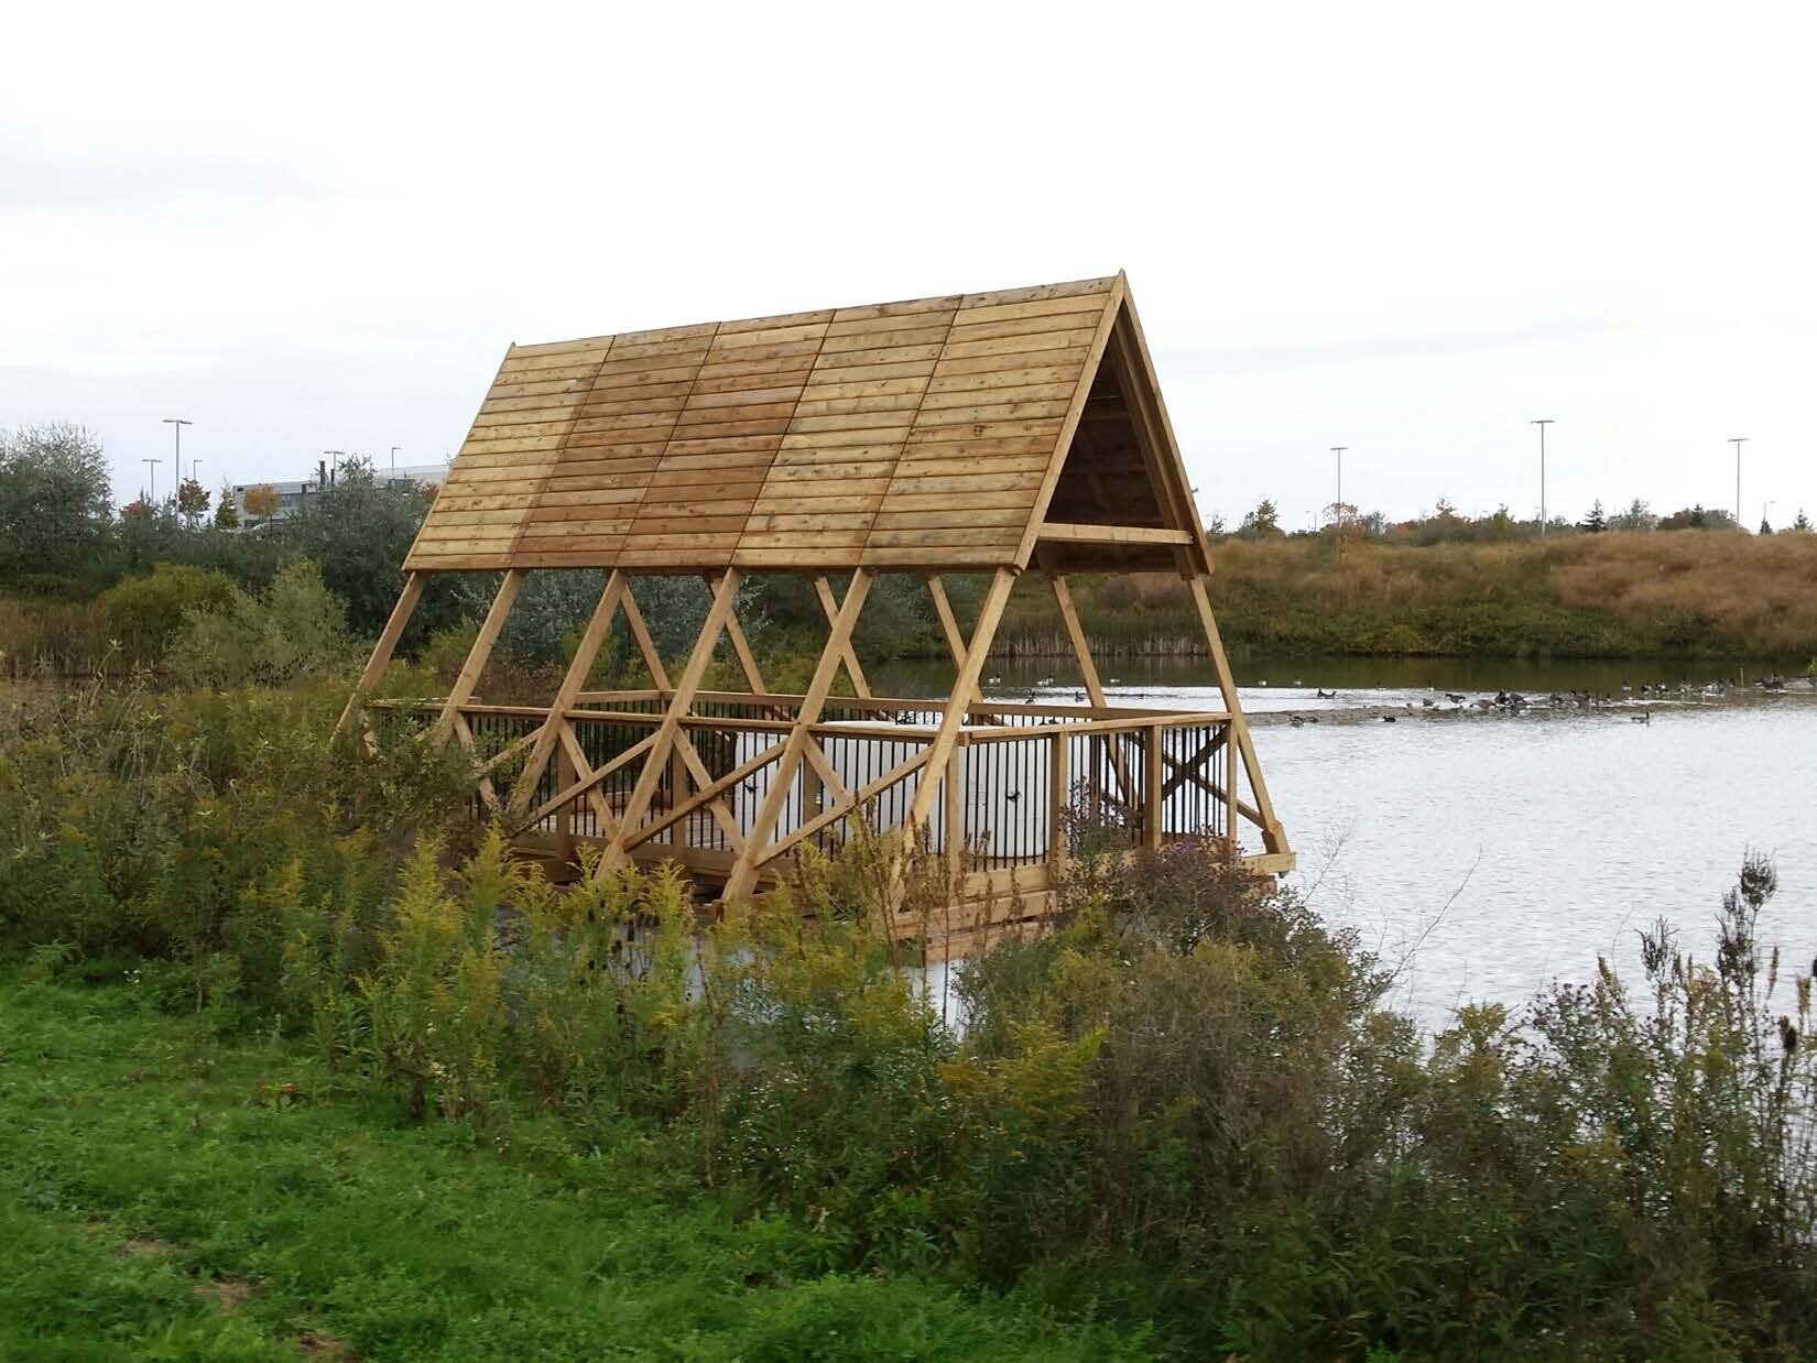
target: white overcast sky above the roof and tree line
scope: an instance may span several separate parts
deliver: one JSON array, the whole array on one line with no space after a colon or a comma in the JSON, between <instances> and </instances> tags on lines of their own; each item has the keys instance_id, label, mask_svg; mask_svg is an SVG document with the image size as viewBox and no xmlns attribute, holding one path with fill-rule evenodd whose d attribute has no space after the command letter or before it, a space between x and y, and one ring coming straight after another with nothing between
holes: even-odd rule
<instances>
[{"instance_id":1,"label":"white overcast sky above the roof and tree line","mask_svg":"<svg viewBox=\"0 0 1817 1363\"><path fill-rule=\"evenodd\" d=\"M511 340L1127 269L1206 514L1817 514L1797 5L11 5L0 425L458 447Z\"/></svg>"}]
</instances>

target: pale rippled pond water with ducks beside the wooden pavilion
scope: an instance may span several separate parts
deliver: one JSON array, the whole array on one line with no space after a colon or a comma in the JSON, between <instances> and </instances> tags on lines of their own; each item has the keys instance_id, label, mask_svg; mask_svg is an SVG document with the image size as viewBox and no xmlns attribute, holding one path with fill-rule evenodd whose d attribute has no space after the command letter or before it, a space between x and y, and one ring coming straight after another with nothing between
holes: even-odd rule
<instances>
[{"instance_id":1,"label":"pale rippled pond water with ducks beside the wooden pavilion","mask_svg":"<svg viewBox=\"0 0 1817 1363\"><path fill-rule=\"evenodd\" d=\"M1216 707L1205 662L1119 662L1112 703ZM990 691L1070 698L1001 671ZM1107 672L1112 669L1105 669ZM1623 682L1735 680L1732 665L1299 660L1237 665L1276 812L1299 852L1292 881L1335 925L1399 963L1394 1001L1443 1025L1463 1001L1519 1007L1552 980L1590 980L1599 954L1641 983L1637 932L1668 918L1708 960L1717 901L1753 849L1779 894L1762 940L1817 956L1817 694L1624 700ZM1748 676L1772 667L1748 669ZM914 685L914 672L874 676ZM1299 682L1301 685L1294 685ZM1266 685L1263 685L1266 683ZM1321 700L1319 689L1337 691ZM1541 703L1477 709L1521 689ZM1615 703L1544 703L1552 691ZM925 694L925 687L921 689ZM1463 707L1445 700L1472 696ZM1430 701L1430 705L1428 705ZM1639 714L1648 723L1633 723ZM1294 727L1288 714L1319 716ZM1377 716L1395 714L1395 723Z\"/></svg>"}]
</instances>

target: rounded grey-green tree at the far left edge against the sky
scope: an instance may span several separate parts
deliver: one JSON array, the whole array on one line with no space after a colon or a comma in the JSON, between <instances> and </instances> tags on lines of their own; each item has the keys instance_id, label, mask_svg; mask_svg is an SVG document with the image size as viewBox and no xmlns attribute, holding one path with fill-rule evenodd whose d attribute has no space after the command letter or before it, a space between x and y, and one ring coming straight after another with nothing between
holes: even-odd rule
<instances>
[{"instance_id":1,"label":"rounded grey-green tree at the far left edge against the sky","mask_svg":"<svg viewBox=\"0 0 1817 1363\"><path fill-rule=\"evenodd\" d=\"M102 442L80 425L0 431L0 580L84 571L107 538Z\"/></svg>"}]
</instances>

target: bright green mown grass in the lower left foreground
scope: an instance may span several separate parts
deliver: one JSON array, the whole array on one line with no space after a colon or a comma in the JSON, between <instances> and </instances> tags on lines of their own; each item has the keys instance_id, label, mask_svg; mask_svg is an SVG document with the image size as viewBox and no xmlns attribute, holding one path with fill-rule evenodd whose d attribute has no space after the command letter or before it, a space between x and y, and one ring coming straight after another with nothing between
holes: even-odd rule
<instances>
[{"instance_id":1,"label":"bright green mown grass in the lower left foreground","mask_svg":"<svg viewBox=\"0 0 1817 1363\"><path fill-rule=\"evenodd\" d=\"M938 1279L823 1274L805 1229L734 1219L636 1130L416 1127L147 992L0 974L0 1358L1141 1352Z\"/></svg>"}]
</instances>

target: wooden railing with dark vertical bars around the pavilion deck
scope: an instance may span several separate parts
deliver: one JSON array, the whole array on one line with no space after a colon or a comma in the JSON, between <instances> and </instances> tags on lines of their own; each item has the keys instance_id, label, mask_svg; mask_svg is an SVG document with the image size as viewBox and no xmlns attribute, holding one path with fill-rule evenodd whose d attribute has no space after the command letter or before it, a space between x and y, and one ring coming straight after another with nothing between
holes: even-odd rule
<instances>
[{"instance_id":1,"label":"wooden railing with dark vertical bars around the pavilion deck","mask_svg":"<svg viewBox=\"0 0 1817 1363\"><path fill-rule=\"evenodd\" d=\"M592 840L707 874L747 858L760 876L774 876L801 845L830 852L859 827L901 827L945 707L936 700L830 700L819 721L807 725L807 760L776 801L774 825L758 829L799 698L700 692L678 720L685 741L656 772L636 825L623 829L667 701L661 691L616 691L581 692L560 712L458 705L452 734L474 763L474 814L501 820L525 845L569 858L576 843ZM432 716L443 701L376 701L372 709ZM554 760L529 789L518 789L514 776L538 741L549 741L545 729L554 736ZM1248 852L1259 847L1261 816L1230 780L1230 716L1221 711L974 701L948 774L939 778L927 843L967 876L1043 869L1036 880L1050 880L1085 845L1161 847L1236 832Z\"/></svg>"}]
</instances>

